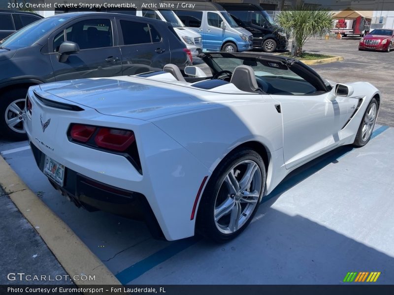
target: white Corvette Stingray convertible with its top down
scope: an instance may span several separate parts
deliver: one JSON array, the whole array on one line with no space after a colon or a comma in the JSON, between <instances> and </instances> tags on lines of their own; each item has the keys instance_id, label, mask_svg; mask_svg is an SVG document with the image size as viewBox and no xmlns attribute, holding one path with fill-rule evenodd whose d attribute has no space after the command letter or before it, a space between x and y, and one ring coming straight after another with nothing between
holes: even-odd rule
<instances>
[{"instance_id":1,"label":"white Corvette Stingray convertible with its top down","mask_svg":"<svg viewBox=\"0 0 394 295\"><path fill-rule=\"evenodd\" d=\"M213 73L33 86L25 129L39 169L77 206L143 219L157 237L240 234L292 170L365 145L381 94L329 84L294 59L204 53Z\"/></svg>"}]
</instances>

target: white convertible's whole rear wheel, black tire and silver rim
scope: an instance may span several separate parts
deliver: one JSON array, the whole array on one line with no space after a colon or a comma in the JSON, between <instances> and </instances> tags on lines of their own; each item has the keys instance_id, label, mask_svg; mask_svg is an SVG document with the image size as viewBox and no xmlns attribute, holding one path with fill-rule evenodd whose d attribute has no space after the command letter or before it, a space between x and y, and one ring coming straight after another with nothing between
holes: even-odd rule
<instances>
[{"instance_id":1,"label":"white convertible's whole rear wheel, black tire and silver rim","mask_svg":"<svg viewBox=\"0 0 394 295\"><path fill-rule=\"evenodd\" d=\"M197 213L197 232L217 242L238 236L251 222L265 187L265 166L254 150L230 153L211 176Z\"/></svg>"}]
</instances>

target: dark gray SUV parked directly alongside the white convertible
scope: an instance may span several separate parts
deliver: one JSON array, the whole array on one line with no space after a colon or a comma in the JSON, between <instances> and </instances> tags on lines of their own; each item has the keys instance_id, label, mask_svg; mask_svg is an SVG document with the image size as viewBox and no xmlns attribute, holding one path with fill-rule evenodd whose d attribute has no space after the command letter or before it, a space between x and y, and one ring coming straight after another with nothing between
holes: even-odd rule
<instances>
[{"instance_id":1,"label":"dark gray SUV parked directly alongside the white convertible","mask_svg":"<svg viewBox=\"0 0 394 295\"><path fill-rule=\"evenodd\" d=\"M75 12L39 20L0 43L0 133L25 139L22 111L35 84L183 69L190 51L171 24L118 13Z\"/></svg>"}]
</instances>

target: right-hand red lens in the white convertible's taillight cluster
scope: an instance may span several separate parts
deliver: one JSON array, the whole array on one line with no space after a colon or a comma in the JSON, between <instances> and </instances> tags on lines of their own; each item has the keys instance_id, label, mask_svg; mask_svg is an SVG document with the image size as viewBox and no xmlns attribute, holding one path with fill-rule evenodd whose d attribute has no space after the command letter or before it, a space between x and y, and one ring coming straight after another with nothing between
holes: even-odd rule
<instances>
[{"instance_id":1,"label":"right-hand red lens in the white convertible's taillight cluster","mask_svg":"<svg viewBox=\"0 0 394 295\"><path fill-rule=\"evenodd\" d=\"M100 148L108 148L117 151L125 151L134 142L132 131L100 128L95 137L96 145Z\"/></svg>"}]
</instances>

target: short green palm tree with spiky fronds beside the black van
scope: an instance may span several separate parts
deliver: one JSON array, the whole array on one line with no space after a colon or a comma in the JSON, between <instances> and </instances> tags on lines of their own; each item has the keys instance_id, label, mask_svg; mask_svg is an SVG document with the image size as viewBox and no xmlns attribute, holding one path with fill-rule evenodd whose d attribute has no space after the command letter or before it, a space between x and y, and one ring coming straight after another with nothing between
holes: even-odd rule
<instances>
[{"instance_id":1,"label":"short green palm tree with spiky fronds beside the black van","mask_svg":"<svg viewBox=\"0 0 394 295\"><path fill-rule=\"evenodd\" d=\"M305 5L295 10L284 10L277 16L279 25L293 36L294 57L302 56L302 46L312 36L323 37L332 29L332 12Z\"/></svg>"}]
</instances>

